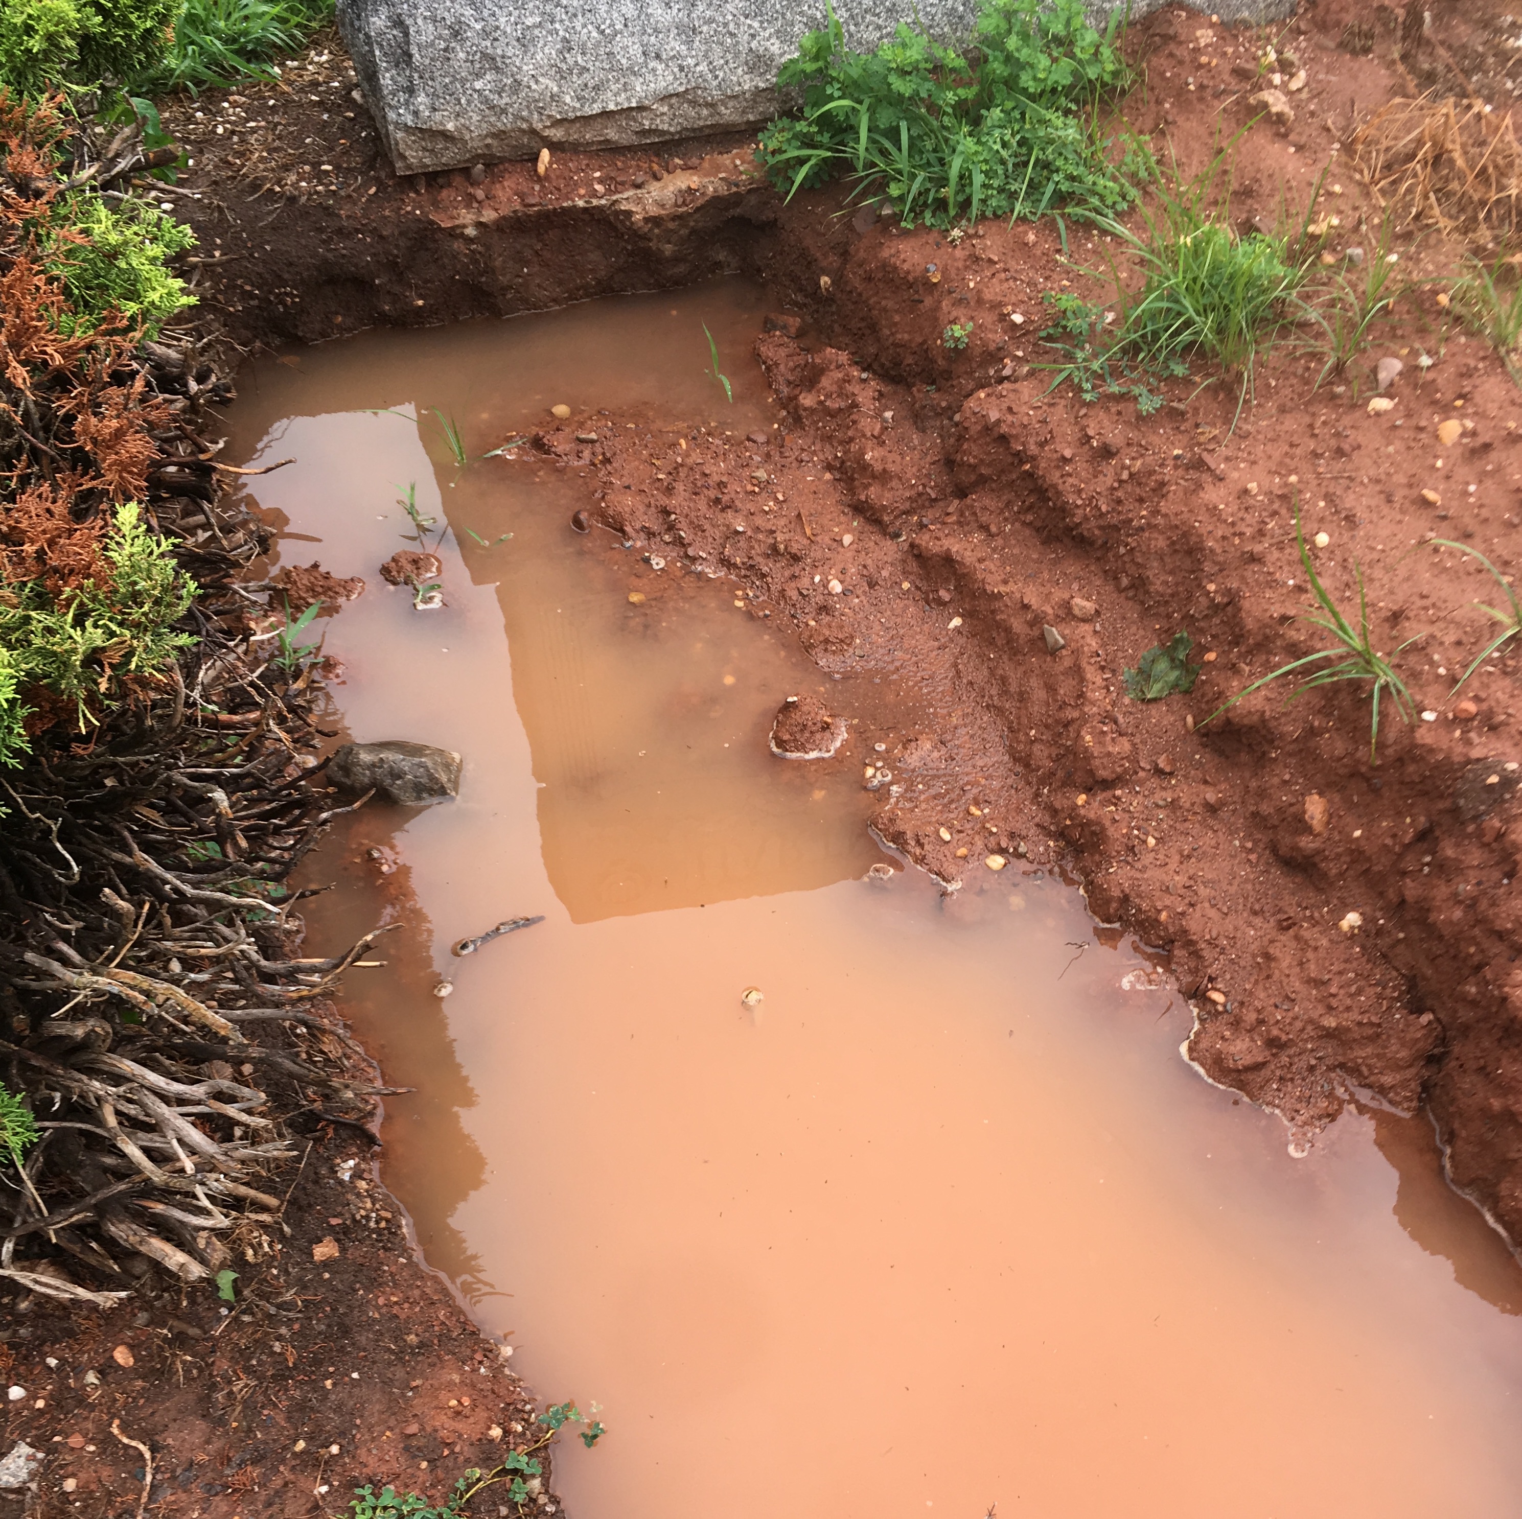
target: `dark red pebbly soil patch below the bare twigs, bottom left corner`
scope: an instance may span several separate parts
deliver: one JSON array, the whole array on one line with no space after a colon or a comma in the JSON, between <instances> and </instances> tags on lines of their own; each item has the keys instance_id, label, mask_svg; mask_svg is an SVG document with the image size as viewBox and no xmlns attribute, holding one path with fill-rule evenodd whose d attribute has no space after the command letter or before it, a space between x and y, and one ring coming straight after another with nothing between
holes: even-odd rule
<instances>
[{"instance_id":1,"label":"dark red pebbly soil patch below the bare twigs, bottom left corner","mask_svg":"<svg viewBox=\"0 0 1522 1519\"><path fill-rule=\"evenodd\" d=\"M146 1511L178 1519L318 1519L365 1482L441 1498L545 1434L498 1347L419 1266L370 1157L353 1135L314 1135L279 1189L279 1239L233 1240L233 1304L149 1279L110 1312L8 1309L0 1364L24 1396L6 1405L5 1449L47 1458L35 1495L6 1495L29 1499L27 1519L145 1511L146 1464L113 1425L152 1452ZM537 1460L524 1511L552 1514Z\"/></svg>"}]
</instances>

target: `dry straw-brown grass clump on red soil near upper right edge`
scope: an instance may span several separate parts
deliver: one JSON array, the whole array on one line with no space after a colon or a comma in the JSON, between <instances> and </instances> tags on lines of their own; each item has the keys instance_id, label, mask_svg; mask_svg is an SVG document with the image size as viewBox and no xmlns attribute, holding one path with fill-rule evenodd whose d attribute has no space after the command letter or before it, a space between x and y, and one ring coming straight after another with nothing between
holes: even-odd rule
<instances>
[{"instance_id":1,"label":"dry straw-brown grass clump on red soil near upper right edge","mask_svg":"<svg viewBox=\"0 0 1522 1519\"><path fill-rule=\"evenodd\" d=\"M1391 100L1353 135L1353 161L1402 227L1493 253L1522 234L1522 149L1511 113L1481 100Z\"/></svg>"}]
</instances>

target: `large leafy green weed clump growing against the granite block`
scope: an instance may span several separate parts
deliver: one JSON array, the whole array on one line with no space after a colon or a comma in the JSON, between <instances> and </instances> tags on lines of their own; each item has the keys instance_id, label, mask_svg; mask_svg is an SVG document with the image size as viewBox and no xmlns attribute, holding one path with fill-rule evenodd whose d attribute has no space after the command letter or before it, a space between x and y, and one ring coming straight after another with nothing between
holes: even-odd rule
<instances>
[{"instance_id":1,"label":"large leafy green weed clump growing against the granite block","mask_svg":"<svg viewBox=\"0 0 1522 1519\"><path fill-rule=\"evenodd\" d=\"M802 91L802 116L766 128L761 160L788 198L849 170L906 227L1120 212L1131 193L1094 123L1100 94L1126 78L1117 26L1119 14L1096 32L1082 0L983 0L966 53L907 23L855 53L829 6L778 75Z\"/></svg>"}]
</instances>

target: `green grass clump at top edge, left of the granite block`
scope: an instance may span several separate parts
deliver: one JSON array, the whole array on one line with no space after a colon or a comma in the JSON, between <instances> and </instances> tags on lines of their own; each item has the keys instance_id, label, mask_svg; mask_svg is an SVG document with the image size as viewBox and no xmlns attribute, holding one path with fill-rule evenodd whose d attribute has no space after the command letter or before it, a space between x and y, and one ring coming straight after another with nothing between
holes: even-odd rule
<instances>
[{"instance_id":1,"label":"green grass clump at top edge, left of the granite block","mask_svg":"<svg viewBox=\"0 0 1522 1519\"><path fill-rule=\"evenodd\" d=\"M333 14L333 0L183 0L175 38L132 79L145 94L199 94L240 79L277 79L289 58Z\"/></svg>"}]
</instances>

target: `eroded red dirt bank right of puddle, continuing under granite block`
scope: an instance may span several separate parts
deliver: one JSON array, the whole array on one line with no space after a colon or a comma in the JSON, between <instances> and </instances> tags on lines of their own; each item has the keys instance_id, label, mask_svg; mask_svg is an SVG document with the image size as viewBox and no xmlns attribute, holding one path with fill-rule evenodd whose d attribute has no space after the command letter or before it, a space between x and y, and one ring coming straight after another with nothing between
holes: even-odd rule
<instances>
[{"instance_id":1,"label":"eroded red dirt bank right of puddle, continuing under granite block","mask_svg":"<svg viewBox=\"0 0 1522 1519\"><path fill-rule=\"evenodd\" d=\"M1288 132L1248 134L1240 219L1271 216L1282 187L1303 193L1327 167L1344 228L1333 247L1377 236L1342 139L1408 84L1405 65L1359 53L1350 29L1365 20L1376 38L1390 30L1356 6L1301 18L1309 87ZM1186 157L1218 114L1228 128L1248 117L1240 81L1193 87L1204 29L1169 12L1137 32L1154 85L1137 125L1166 129ZM1230 81L1228 44L1208 46L1222 53L1208 78ZM1183 78L1187 90L1169 82ZM356 170L373 163L358 129L332 163L341 152ZM1428 546L1450 537L1505 572L1517 562L1517 391L1438 304L1440 286L1403 297L1368 355L1403 356L1393 409L1370 414L1367 385L1317 390L1321 361L1282 349L1233 431L1222 384L1172 384L1151 419L1129 400L1047 394L1030 368L1046 356L1041 297L1097 289L1073 266L1103 257L1090 239L1075 237L1070 262L1050 224L982 227L953 247L839 216L825 196L782 209L734 145L659 164L568 158L542 183L521 164L426 186L371 170L285 202L257 237L244 215L207 216L202 236L242 260L210 272L221 283L207 295L245 341L734 268L767 277L785 318L759 346L770 431L726 437L720 422L679 438L644 419L571 419L540 446L600 473L607 521L665 574L735 575L756 615L790 616L825 668L913 674L928 715L880 735L884 836L948 881L989 854L1071 869L1102 919L1172 954L1199 1014L1192 1053L1213 1079L1303 1129L1350 1090L1406 1110L1425 1099L1455 1184L1522 1234L1516 658L1450 697L1485 642L1470 603L1493 583ZM942 344L953 321L973 326L965 352ZM1450 419L1460 437L1440 441ZM591 431L595 443L578 441ZM1192 726L1321 647L1295 621L1309 600L1297 501L1307 534L1327 534L1318 572L1339 603L1356 597L1356 560L1376 630L1391 644L1422 635L1405 670L1432 715L1408 728L1387 712L1377 767L1355 689L1288 708L1265 693ZM1128 700L1122 668L1178 629L1208 661L1195 693Z\"/></svg>"}]
</instances>

